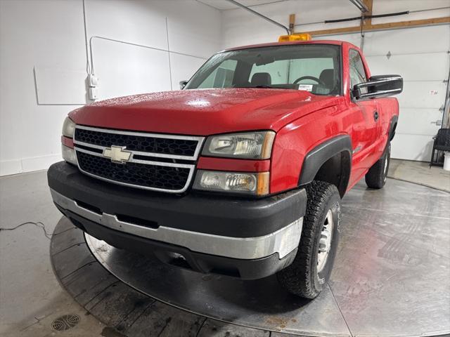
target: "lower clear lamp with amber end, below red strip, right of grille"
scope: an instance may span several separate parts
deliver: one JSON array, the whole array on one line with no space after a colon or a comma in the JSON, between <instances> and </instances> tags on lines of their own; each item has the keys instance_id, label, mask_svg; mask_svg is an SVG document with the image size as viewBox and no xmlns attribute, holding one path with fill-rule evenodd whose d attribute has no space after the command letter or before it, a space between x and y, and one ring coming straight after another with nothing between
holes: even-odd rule
<instances>
[{"instance_id":1,"label":"lower clear lamp with amber end, below red strip, right of grille","mask_svg":"<svg viewBox=\"0 0 450 337\"><path fill-rule=\"evenodd\" d=\"M216 192L269 194L269 172L242 173L198 170L193 188Z\"/></svg>"}]
</instances>

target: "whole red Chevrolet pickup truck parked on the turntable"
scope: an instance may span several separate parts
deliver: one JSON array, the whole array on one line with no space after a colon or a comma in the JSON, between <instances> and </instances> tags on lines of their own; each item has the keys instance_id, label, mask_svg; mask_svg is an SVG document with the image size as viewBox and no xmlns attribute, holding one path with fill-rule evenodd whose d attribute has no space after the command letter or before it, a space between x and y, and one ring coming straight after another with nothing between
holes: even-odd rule
<instances>
[{"instance_id":1,"label":"whole red Chevrolet pickup truck parked on the turntable","mask_svg":"<svg viewBox=\"0 0 450 337\"><path fill-rule=\"evenodd\" d=\"M221 51L181 85L70 112L56 206L117 248L316 297L341 198L385 185L403 79L347 42L288 41Z\"/></svg>"}]
</instances>

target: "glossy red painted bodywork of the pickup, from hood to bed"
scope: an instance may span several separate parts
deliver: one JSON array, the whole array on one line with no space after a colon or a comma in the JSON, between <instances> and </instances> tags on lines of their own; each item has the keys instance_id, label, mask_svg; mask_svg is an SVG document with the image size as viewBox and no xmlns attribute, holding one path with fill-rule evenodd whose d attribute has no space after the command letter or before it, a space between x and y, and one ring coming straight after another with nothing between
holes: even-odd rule
<instances>
[{"instance_id":1,"label":"glossy red painted bodywork of the pickup, from hood to bed","mask_svg":"<svg viewBox=\"0 0 450 337\"><path fill-rule=\"evenodd\" d=\"M342 41L283 44L341 45L343 95L321 96L271 88L171 91L104 100L70 112L70 118L88 126L194 136L276 131L270 160L200 157L198 161L198 169L254 172L270 169L271 193L297 187L304 157L314 147L335 136L349 135L354 150L349 190L383 154L390 121L398 114L397 99L375 98L358 103L351 100L350 48L359 51L366 75L371 76L363 53L352 44ZM240 48L276 45L280 44ZM375 110L380 114L378 121L373 119Z\"/></svg>"}]
</instances>

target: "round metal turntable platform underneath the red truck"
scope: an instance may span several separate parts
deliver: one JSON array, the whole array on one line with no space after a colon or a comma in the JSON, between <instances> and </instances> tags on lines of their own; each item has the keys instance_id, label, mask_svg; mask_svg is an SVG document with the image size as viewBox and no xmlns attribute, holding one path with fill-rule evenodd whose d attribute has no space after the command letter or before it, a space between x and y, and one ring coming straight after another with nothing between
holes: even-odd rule
<instances>
[{"instance_id":1,"label":"round metal turntable platform underneath the red truck","mask_svg":"<svg viewBox=\"0 0 450 337\"><path fill-rule=\"evenodd\" d=\"M202 275L115 249L66 218L51 256L75 300L129 337L439 336L450 333L449 205L449 193L399 180L383 190L356 185L342 201L330 282L315 300L291 296L275 277Z\"/></svg>"}]
</instances>

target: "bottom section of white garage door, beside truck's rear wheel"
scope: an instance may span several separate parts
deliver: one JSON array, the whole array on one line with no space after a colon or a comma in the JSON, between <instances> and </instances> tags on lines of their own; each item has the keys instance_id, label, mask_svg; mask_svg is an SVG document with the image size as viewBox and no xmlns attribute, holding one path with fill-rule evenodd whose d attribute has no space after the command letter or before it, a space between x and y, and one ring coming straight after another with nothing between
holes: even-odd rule
<instances>
[{"instance_id":1,"label":"bottom section of white garage door, beside truck's rear wheel","mask_svg":"<svg viewBox=\"0 0 450 337\"><path fill-rule=\"evenodd\" d=\"M407 146L406 146L407 145ZM430 161L433 140L431 136L396 133L392 140L391 157L418 161Z\"/></svg>"}]
</instances>

